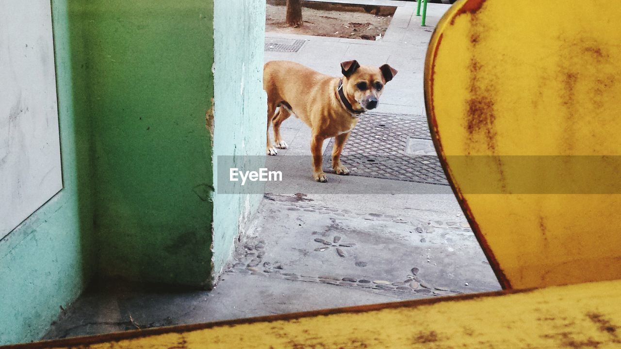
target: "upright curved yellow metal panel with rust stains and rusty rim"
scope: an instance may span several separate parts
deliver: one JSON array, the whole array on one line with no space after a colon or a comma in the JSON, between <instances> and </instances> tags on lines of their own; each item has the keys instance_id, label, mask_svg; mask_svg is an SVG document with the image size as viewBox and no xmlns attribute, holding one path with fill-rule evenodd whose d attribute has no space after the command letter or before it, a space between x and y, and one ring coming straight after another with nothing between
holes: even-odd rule
<instances>
[{"instance_id":1,"label":"upright curved yellow metal panel with rust stains and rusty rim","mask_svg":"<svg viewBox=\"0 0 621 349\"><path fill-rule=\"evenodd\" d=\"M469 0L425 63L432 134L505 288L621 278L621 6Z\"/></svg>"}]
</instances>

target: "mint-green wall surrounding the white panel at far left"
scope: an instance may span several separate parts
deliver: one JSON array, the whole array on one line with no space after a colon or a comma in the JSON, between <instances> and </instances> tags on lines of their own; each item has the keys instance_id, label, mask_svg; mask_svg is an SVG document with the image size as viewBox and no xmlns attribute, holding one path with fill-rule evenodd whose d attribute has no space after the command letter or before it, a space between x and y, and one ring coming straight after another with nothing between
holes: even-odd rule
<instances>
[{"instance_id":1,"label":"mint-green wall surrounding the white panel at far left","mask_svg":"<svg viewBox=\"0 0 621 349\"><path fill-rule=\"evenodd\" d=\"M86 76L73 64L68 0L52 1L64 188L0 240L0 345L37 340L94 270Z\"/></svg>"}]
</instances>

